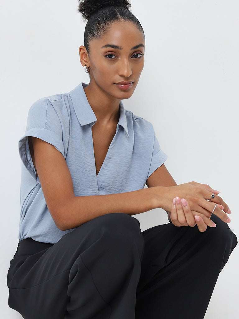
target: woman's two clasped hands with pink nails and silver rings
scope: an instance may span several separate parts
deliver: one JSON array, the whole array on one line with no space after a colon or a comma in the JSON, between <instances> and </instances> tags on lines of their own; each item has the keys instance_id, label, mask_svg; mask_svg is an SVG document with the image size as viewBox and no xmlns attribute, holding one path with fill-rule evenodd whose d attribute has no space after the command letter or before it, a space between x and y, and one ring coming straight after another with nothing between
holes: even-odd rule
<instances>
[{"instance_id":1,"label":"woman's two clasped hands with pink nails and silver rings","mask_svg":"<svg viewBox=\"0 0 239 319\"><path fill-rule=\"evenodd\" d=\"M175 226L198 226L200 232L209 227L216 227L210 219L212 211L222 221L230 223L227 214L231 214L228 205L218 194L219 191L208 185L190 182L172 186L173 192L178 196L173 198L171 211L168 211L168 219ZM214 198L211 195L214 193ZM181 197L182 194L182 197ZM185 195L186 194L186 195ZM216 205L216 207L215 207Z\"/></svg>"}]
</instances>

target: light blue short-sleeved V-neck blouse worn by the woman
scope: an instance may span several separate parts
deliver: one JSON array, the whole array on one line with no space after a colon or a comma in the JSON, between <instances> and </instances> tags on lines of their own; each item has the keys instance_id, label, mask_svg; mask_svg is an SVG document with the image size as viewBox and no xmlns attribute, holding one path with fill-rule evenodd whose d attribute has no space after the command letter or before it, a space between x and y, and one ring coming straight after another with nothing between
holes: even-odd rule
<instances>
[{"instance_id":1,"label":"light blue short-sleeved V-neck blouse worn by the woman","mask_svg":"<svg viewBox=\"0 0 239 319\"><path fill-rule=\"evenodd\" d=\"M59 230L47 209L29 151L28 136L38 137L62 153L76 196L104 195L143 189L150 174L167 156L160 149L153 126L124 109L104 163L96 175L91 127L97 118L84 93L84 83L66 94L35 102L25 135L19 141L22 159L19 240L55 243L67 231ZM67 212L66 212L67 213Z\"/></svg>"}]
</instances>

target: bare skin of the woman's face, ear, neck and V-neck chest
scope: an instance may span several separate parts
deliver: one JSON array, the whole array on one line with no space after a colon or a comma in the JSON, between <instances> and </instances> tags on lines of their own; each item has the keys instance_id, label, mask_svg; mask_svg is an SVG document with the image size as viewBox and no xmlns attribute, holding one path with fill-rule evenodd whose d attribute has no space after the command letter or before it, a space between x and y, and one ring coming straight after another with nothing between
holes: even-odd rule
<instances>
[{"instance_id":1,"label":"bare skin of the woman's face, ear, neck and V-neck chest","mask_svg":"<svg viewBox=\"0 0 239 319\"><path fill-rule=\"evenodd\" d=\"M83 46L79 49L81 64L90 69L85 94L97 118L92 127L97 174L116 132L120 100L131 97L143 70L145 40L135 31L132 23L116 22L103 39L91 42L90 54ZM116 85L122 81L132 82L132 86L123 90Z\"/></svg>"}]
</instances>

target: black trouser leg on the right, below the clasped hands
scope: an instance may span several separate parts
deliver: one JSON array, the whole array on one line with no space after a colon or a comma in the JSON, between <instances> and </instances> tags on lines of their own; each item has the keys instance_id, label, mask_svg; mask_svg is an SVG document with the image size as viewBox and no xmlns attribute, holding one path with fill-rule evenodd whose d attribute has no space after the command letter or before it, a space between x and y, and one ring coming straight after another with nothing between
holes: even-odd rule
<instances>
[{"instance_id":1,"label":"black trouser leg on the right, below the clasped hands","mask_svg":"<svg viewBox=\"0 0 239 319\"><path fill-rule=\"evenodd\" d=\"M203 318L219 272L237 240L228 225L216 228L155 226L144 231L136 317ZM197 302L195 303L195 300Z\"/></svg>"}]
</instances>

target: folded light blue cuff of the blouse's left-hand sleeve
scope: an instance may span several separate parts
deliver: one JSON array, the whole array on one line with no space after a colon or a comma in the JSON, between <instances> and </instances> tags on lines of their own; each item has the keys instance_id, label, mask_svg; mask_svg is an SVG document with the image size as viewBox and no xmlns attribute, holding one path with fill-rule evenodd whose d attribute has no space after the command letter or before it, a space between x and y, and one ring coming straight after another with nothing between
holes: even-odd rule
<instances>
[{"instance_id":1,"label":"folded light blue cuff of the blouse's left-hand sleeve","mask_svg":"<svg viewBox=\"0 0 239 319\"><path fill-rule=\"evenodd\" d=\"M28 136L37 137L49 144L52 144L65 157L64 145L61 138L56 133L45 128L32 128L28 130L25 135L19 140L18 146L21 160L33 179L36 182L39 182L39 178L36 177L36 171L30 154Z\"/></svg>"}]
</instances>

